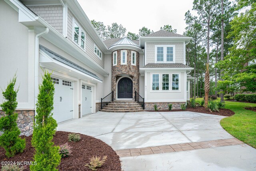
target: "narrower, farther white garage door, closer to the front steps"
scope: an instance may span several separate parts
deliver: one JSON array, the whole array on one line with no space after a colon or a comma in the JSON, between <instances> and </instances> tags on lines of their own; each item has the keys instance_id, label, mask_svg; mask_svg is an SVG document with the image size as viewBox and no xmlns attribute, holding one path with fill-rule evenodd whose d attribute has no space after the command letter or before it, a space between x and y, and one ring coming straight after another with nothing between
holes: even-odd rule
<instances>
[{"instance_id":1,"label":"narrower, farther white garage door, closer to the front steps","mask_svg":"<svg viewBox=\"0 0 256 171\"><path fill-rule=\"evenodd\" d=\"M82 85L82 115L92 113L92 86Z\"/></svg>"}]
</instances>

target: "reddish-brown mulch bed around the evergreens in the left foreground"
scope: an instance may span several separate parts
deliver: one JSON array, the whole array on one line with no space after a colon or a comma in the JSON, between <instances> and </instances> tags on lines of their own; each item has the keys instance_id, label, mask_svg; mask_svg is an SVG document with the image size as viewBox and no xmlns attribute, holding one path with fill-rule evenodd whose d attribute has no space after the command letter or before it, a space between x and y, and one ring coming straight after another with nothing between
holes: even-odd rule
<instances>
[{"instance_id":1,"label":"reddish-brown mulch bed around the evergreens in the left foreground","mask_svg":"<svg viewBox=\"0 0 256 171\"><path fill-rule=\"evenodd\" d=\"M62 145L68 142L68 134L70 132L56 131L54 136L54 144ZM81 135L81 140L77 142L68 142L68 145L72 147L72 155L61 159L61 163L58 167L60 171L91 171L85 165L90 162L90 158L93 156L103 157L107 156L106 163L102 167L97 167L98 171L121 171L121 163L119 156L116 152L103 141L90 137L87 135ZM33 161L34 147L31 146L32 135L29 137L22 136L26 139L26 148L23 153L18 153L12 158L6 158L5 151L0 147L0 161ZM1 166L0 166L1 167ZM24 171L29 171L29 166L24 166Z\"/></svg>"}]
</instances>

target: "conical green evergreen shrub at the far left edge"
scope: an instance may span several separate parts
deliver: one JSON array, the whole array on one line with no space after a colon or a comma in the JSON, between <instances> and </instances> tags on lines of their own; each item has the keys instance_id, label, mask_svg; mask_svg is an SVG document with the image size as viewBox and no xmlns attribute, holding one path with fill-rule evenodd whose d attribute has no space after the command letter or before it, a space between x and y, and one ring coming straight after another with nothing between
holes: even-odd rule
<instances>
[{"instance_id":1,"label":"conical green evergreen shrub at the far left edge","mask_svg":"<svg viewBox=\"0 0 256 171\"><path fill-rule=\"evenodd\" d=\"M14 89L16 83L16 75L9 82L5 91L3 91L3 97L6 99L0 107L5 112L5 115L0 118L0 131L3 134L0 136L0 146L6 151L7 157L13 157L16 153L22 153L26 147L25 139L21 139L20 129L17 126L18 113L15 113L15 109L18 105L17 92L18 89Z\"/></svg>"}]
</instances>

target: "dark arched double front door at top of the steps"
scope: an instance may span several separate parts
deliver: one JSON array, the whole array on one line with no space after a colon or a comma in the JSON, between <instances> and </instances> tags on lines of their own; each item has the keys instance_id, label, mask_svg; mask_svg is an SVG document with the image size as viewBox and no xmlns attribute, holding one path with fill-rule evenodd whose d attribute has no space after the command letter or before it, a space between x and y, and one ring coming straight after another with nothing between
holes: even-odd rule
<instances>
[{"instance_id":1,"label":"dark arched double front door at top of the steps","mask_svg":"<svg viewBox=\"0 0 256 171\"><path fill-rule=\"evenodd\" d=\"M130 99L132 98L132 80L130 78L122 78L117 85L118 99Z\"/></svg>"}]
</instances>

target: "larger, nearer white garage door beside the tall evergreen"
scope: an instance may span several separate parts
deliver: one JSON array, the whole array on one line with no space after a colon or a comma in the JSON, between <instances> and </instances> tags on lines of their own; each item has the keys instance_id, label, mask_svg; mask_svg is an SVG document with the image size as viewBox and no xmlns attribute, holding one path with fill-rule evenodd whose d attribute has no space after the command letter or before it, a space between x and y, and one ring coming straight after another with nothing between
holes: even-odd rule
<instances>
[{"instance_id":1,"label":"larger, nearer white garage door beside the tall evergreen","mask_svg":"<svg viewBox=\"0 0 256 171\"><path fill-rule=\"evenodd\" d=\"M57 123L73 119L73 82L52 78L55 88L53 117Z\"/></svg>"}]
</instances>

